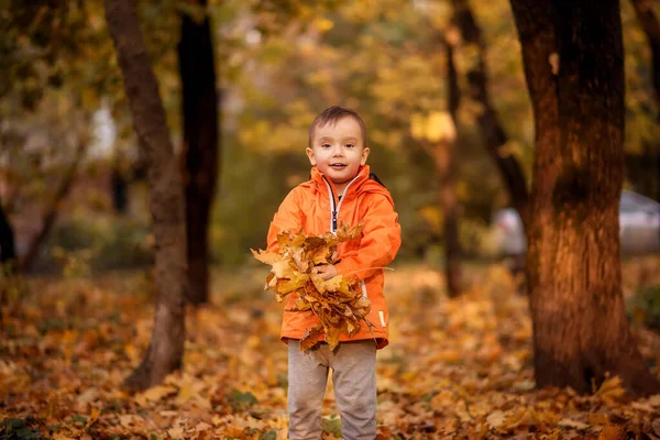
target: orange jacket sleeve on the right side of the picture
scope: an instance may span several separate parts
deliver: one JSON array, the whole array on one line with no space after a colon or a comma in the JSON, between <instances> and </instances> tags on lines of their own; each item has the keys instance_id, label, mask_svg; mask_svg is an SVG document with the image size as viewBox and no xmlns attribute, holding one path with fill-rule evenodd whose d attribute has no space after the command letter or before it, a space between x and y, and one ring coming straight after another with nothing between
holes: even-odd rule
<instances>
[{"instance_id":1,"label":"orange jacket sleeve on the right side of the picture","mask_svg":"<svg viewBox=\"0 0 660 440\"><path fill-rule=\"evenodd\" d=\"M392 263L400 244L398 215L389 198L377 195L367 205L360 249L340 255L341 261L334 267L341 275L369 278Z\"/></svg>"}]
</instances>

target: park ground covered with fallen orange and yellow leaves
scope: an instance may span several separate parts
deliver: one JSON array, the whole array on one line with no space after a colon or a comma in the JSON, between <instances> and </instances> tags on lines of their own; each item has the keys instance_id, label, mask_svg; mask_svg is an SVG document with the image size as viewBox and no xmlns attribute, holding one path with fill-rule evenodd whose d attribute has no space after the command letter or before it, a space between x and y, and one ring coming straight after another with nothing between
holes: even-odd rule
<instances>
[{"instance_id":1,"label":"park ground covered with fallen orange and yellow leaves","mask_svg":"<svg viewBox=\"0 0 660 440\"><path fill-rule=\"evenodd\" d=\"M659 266L659 257L624 263L625 295L660 282ZM464 267L458 299L427 266L395 268L378 438L660 438L660 395L630 399L616 377L590 396L534 388L527 298L503 266ZM282 305L262 289L266 273L217 271L211 305L188 311L183 370L133 395L120 384L151 336L145 272L30 279L28 296L3 310L0 438L285 439ZM634 329L659 375L660 337ZM323 414L323 437L339 437L331 385Z\"/></svg>"}]
</instances>

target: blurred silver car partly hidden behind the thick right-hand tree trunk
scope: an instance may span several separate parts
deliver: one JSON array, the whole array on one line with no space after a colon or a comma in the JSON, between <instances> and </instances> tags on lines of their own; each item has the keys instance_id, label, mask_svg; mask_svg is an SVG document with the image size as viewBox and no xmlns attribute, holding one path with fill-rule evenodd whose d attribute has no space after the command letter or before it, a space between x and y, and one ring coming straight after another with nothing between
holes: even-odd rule
<instances>
[{"instance_id":1,"label":"blurred silver car partly hidden behind the thick right-hand tree trunk","mask_svg":"<svg viewBox=\"0 0 660 440\"><path fill-rule=\"evenodd\" d=\"M520 256L527 251L527 238L518 211L501 209L493 213L496 253ZM624 189L619 202L622 255L660 253L660 204Z\"/></svg>"}]
</instances>

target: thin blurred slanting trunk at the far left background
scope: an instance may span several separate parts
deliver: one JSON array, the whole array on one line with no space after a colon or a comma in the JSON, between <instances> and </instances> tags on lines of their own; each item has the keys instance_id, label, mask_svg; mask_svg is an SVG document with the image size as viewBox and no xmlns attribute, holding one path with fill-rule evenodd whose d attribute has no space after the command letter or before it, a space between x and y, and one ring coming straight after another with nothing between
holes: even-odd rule
<instances>
[{"instance_id":1,"label":"thin blurred slanting trunk at the far left background","mask_svg":"<svg viewBox=\"0 0 660 440\"><path fill-rule=\"evenodd\" d=\"M78 141L78 146L76 147L74 161L70 163L68 169L64 174L62 182L57 187L57 190L51 199L51 204L44 210L44 218L42 220L41 229L30 242L25 256L20 261L21 272L30 272L34 266L34 263L36 263L42 245L46 241L48 234L51 233L53 226L55 226L55 221L57 220L57 215L59 213L59 207L62 205L62 201L69 194L72 186L76 180L76 175L78 174L78 166L80 165L80 161L82 161L82 157L85 156L87 143L88 140L86 135L84 135L82 139Z\"/></svg>"}]
</instances>

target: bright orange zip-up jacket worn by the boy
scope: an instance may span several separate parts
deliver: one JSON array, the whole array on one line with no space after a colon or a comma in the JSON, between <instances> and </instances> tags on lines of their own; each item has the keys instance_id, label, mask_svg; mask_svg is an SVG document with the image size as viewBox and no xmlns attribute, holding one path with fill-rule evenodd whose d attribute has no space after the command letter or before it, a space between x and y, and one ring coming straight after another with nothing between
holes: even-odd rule
<instances>
[{"instance_id":1,"label":"bright orange zip-up jacket worn by the boy","mask_svg":"<svg viewBox=\"0 0 660 440\"><path fill-rule=\"evenodd\" d=\"M361 166L358 176L346 186L339 200L334 185L317 169L311 168L311 178L295 187L284 199L268 229L268 251L277 252L277 234L287 231L306 234L324 234L342 223L356 226L364 221L362 238L338 246L339 274L349 274L363 282L363 290L371 301L372 310L366 319L373 324L372 332L366 323L352 338L340 336L340 341L376 338L378 349L387 345L389 315L383 294L382 268L395 257L402 234L398 215L389 191L370 178L367 165ZM355 272L359 270L364 270ZM295 309L295 294L288 296L282 323L282 340L301 339L308 328L318 322L311 310Z\"/></svg>"}]
</instances>

